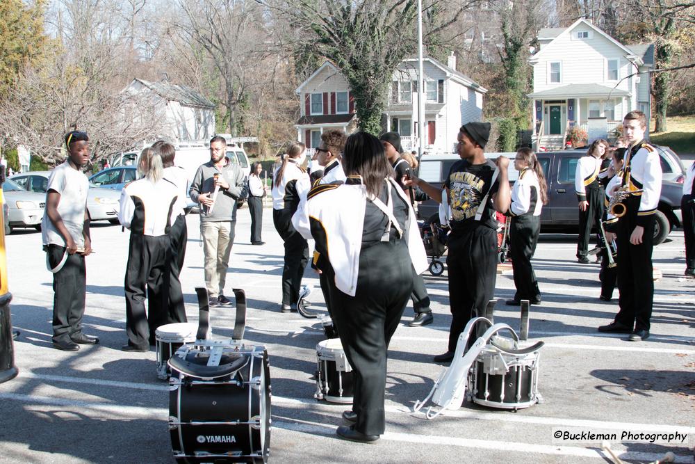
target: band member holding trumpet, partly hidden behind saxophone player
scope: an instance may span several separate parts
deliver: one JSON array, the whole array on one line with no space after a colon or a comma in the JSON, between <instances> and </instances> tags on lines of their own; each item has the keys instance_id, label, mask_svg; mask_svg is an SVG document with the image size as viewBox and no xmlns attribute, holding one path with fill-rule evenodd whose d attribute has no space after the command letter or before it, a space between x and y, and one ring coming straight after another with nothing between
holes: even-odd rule
<instances>
[{"instance_id":1,"label":"band member holding trumpet, partly hidden behind saxophone player","mask_svg":"<svg viewBox=\"0 0 695 464\"><path fill-rule=\"evenodd\" d=\"M608 183L605 188L605 211L603 213L603 227L605 229L605 241L606 243L613 243L615 240L615 230L618 224L618 218L610 214L608 211L608 205L610 204L610 191L614 189L614 186L619 186L623 179L623 157L625 156L625 148L616 148L612 150L612 170L615 171L614 175L608 179ZM618 277L618 269L616 267L610 267L610 259L608 259L608 253L612 253L612 250L608 250L606 243L602 243L601 247L601 270L598 273L598 280L601 282L601 294L598 297L600 301L611 301L613 298L613 290L615 289L616 280Z\"/></svg>"}]
</instances>

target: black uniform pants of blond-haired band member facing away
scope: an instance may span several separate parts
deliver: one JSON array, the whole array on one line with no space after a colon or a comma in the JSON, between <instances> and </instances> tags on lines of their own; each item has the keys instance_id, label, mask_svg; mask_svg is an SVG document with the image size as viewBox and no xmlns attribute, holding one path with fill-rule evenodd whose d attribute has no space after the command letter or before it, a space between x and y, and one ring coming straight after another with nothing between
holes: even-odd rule
<instances>
[{"instance_id":1,"label":"black uniform pants of blond-haired band member facing away","mask_svg":"<svg viewBox=\"0 0 695 464\"><path fill-rule=\"evenodd\" d=\"M168 235L150 237L131 233L125 278L126 332L131 346L145 348L154 344L155 330L167 323L170 246Z\"/></svg>"}]
</instances>

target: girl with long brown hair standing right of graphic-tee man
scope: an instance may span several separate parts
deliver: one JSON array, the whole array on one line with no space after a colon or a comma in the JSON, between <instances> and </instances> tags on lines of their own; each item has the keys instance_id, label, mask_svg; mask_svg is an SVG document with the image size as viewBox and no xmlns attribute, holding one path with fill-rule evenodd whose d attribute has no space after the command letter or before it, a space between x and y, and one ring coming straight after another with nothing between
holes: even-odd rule
<instances>
[{"instance_id":1,"label":"girl with long brown hair standing right of graphic-tee man","mask_svg":"<svg viewBox=\"0 0 695 464\"><path fill-rule=\"evenodd\" d=\"M514 299L507 300L507 305L521 305L521 300L539 305L541 292L531 258L536 253L541 232L541 209L548 203L548 186L543 166L529 148L516 152L514 168L518 170L519 178L514 182L507 216L512 216L509 240L516 294Z\"/></svg>"}]
</instances>

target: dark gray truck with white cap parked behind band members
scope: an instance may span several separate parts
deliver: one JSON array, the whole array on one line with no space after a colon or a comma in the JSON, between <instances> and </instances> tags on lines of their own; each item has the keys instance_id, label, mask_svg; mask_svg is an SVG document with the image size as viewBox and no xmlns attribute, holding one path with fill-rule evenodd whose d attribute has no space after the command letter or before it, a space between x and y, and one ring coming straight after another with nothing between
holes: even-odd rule
<instances>
[{"instance_id":1,"label":"dark gray truck with white cap parked behind band members","mask_svg":"<svg viewBox=\"0 0 695 464\"><path fill-rule=\"evenodd\" d=\"M579 214L574 177L577 163L584 154L586 154L585 150L537 153L538 161L543 166L543 173L545 173L548 183L548 205L545 205L541 211L541 232L577 232ZM662 166L664 163L669 163L671 166L671 160L664 161L664 156L676 157L675 159L680 162L678 155L673 152L660 150L660 155ZM488 158L498 156L512 158L513 155L509 153L486 154ZM420 178L430 182L430 184L441 186L451 166L458 160L457 154L423 157L420 160ZM680 166L682 166L682 162L680 162ZM514 182L516 179L518 179L518 173L514 169L514 163L509 163L509 180ZM680 225L677 213L680 212L681 189L682 185L678 182L669 180L662 182L661 198L656 212L655 244L662 243L671 229ZM432 214L436 214L438 208L439 205L434 200L427 200L419 205L418 215L423 219L430 218Z\"/></svg>"}]
</instances>

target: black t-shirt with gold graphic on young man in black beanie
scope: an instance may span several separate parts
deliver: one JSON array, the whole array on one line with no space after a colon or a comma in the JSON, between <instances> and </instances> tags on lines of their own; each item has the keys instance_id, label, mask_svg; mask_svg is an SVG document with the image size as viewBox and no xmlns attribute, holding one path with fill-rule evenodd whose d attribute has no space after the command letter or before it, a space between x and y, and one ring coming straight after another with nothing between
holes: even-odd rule
<instances>
[{"instance_id":1,"label":"black t-shirt with gold graphic on young man in black beanie","mask_svg":"<svg viewBox=\"0 0 695 464\"><path fill-rule=\"evenodd\" d=\"M497 229L498 222L492 196L497 193L499 182L495 181L490 189L496 168L496 164L490 160L482 164L471 164L461 159L451 166L444 185L449 189L449 205L453 216L450 224L453 232L471 230L479 225ZM482 217L480 221L475 221L480 202L488 191L490 195Z\"/></svg>"}]
</instances>

